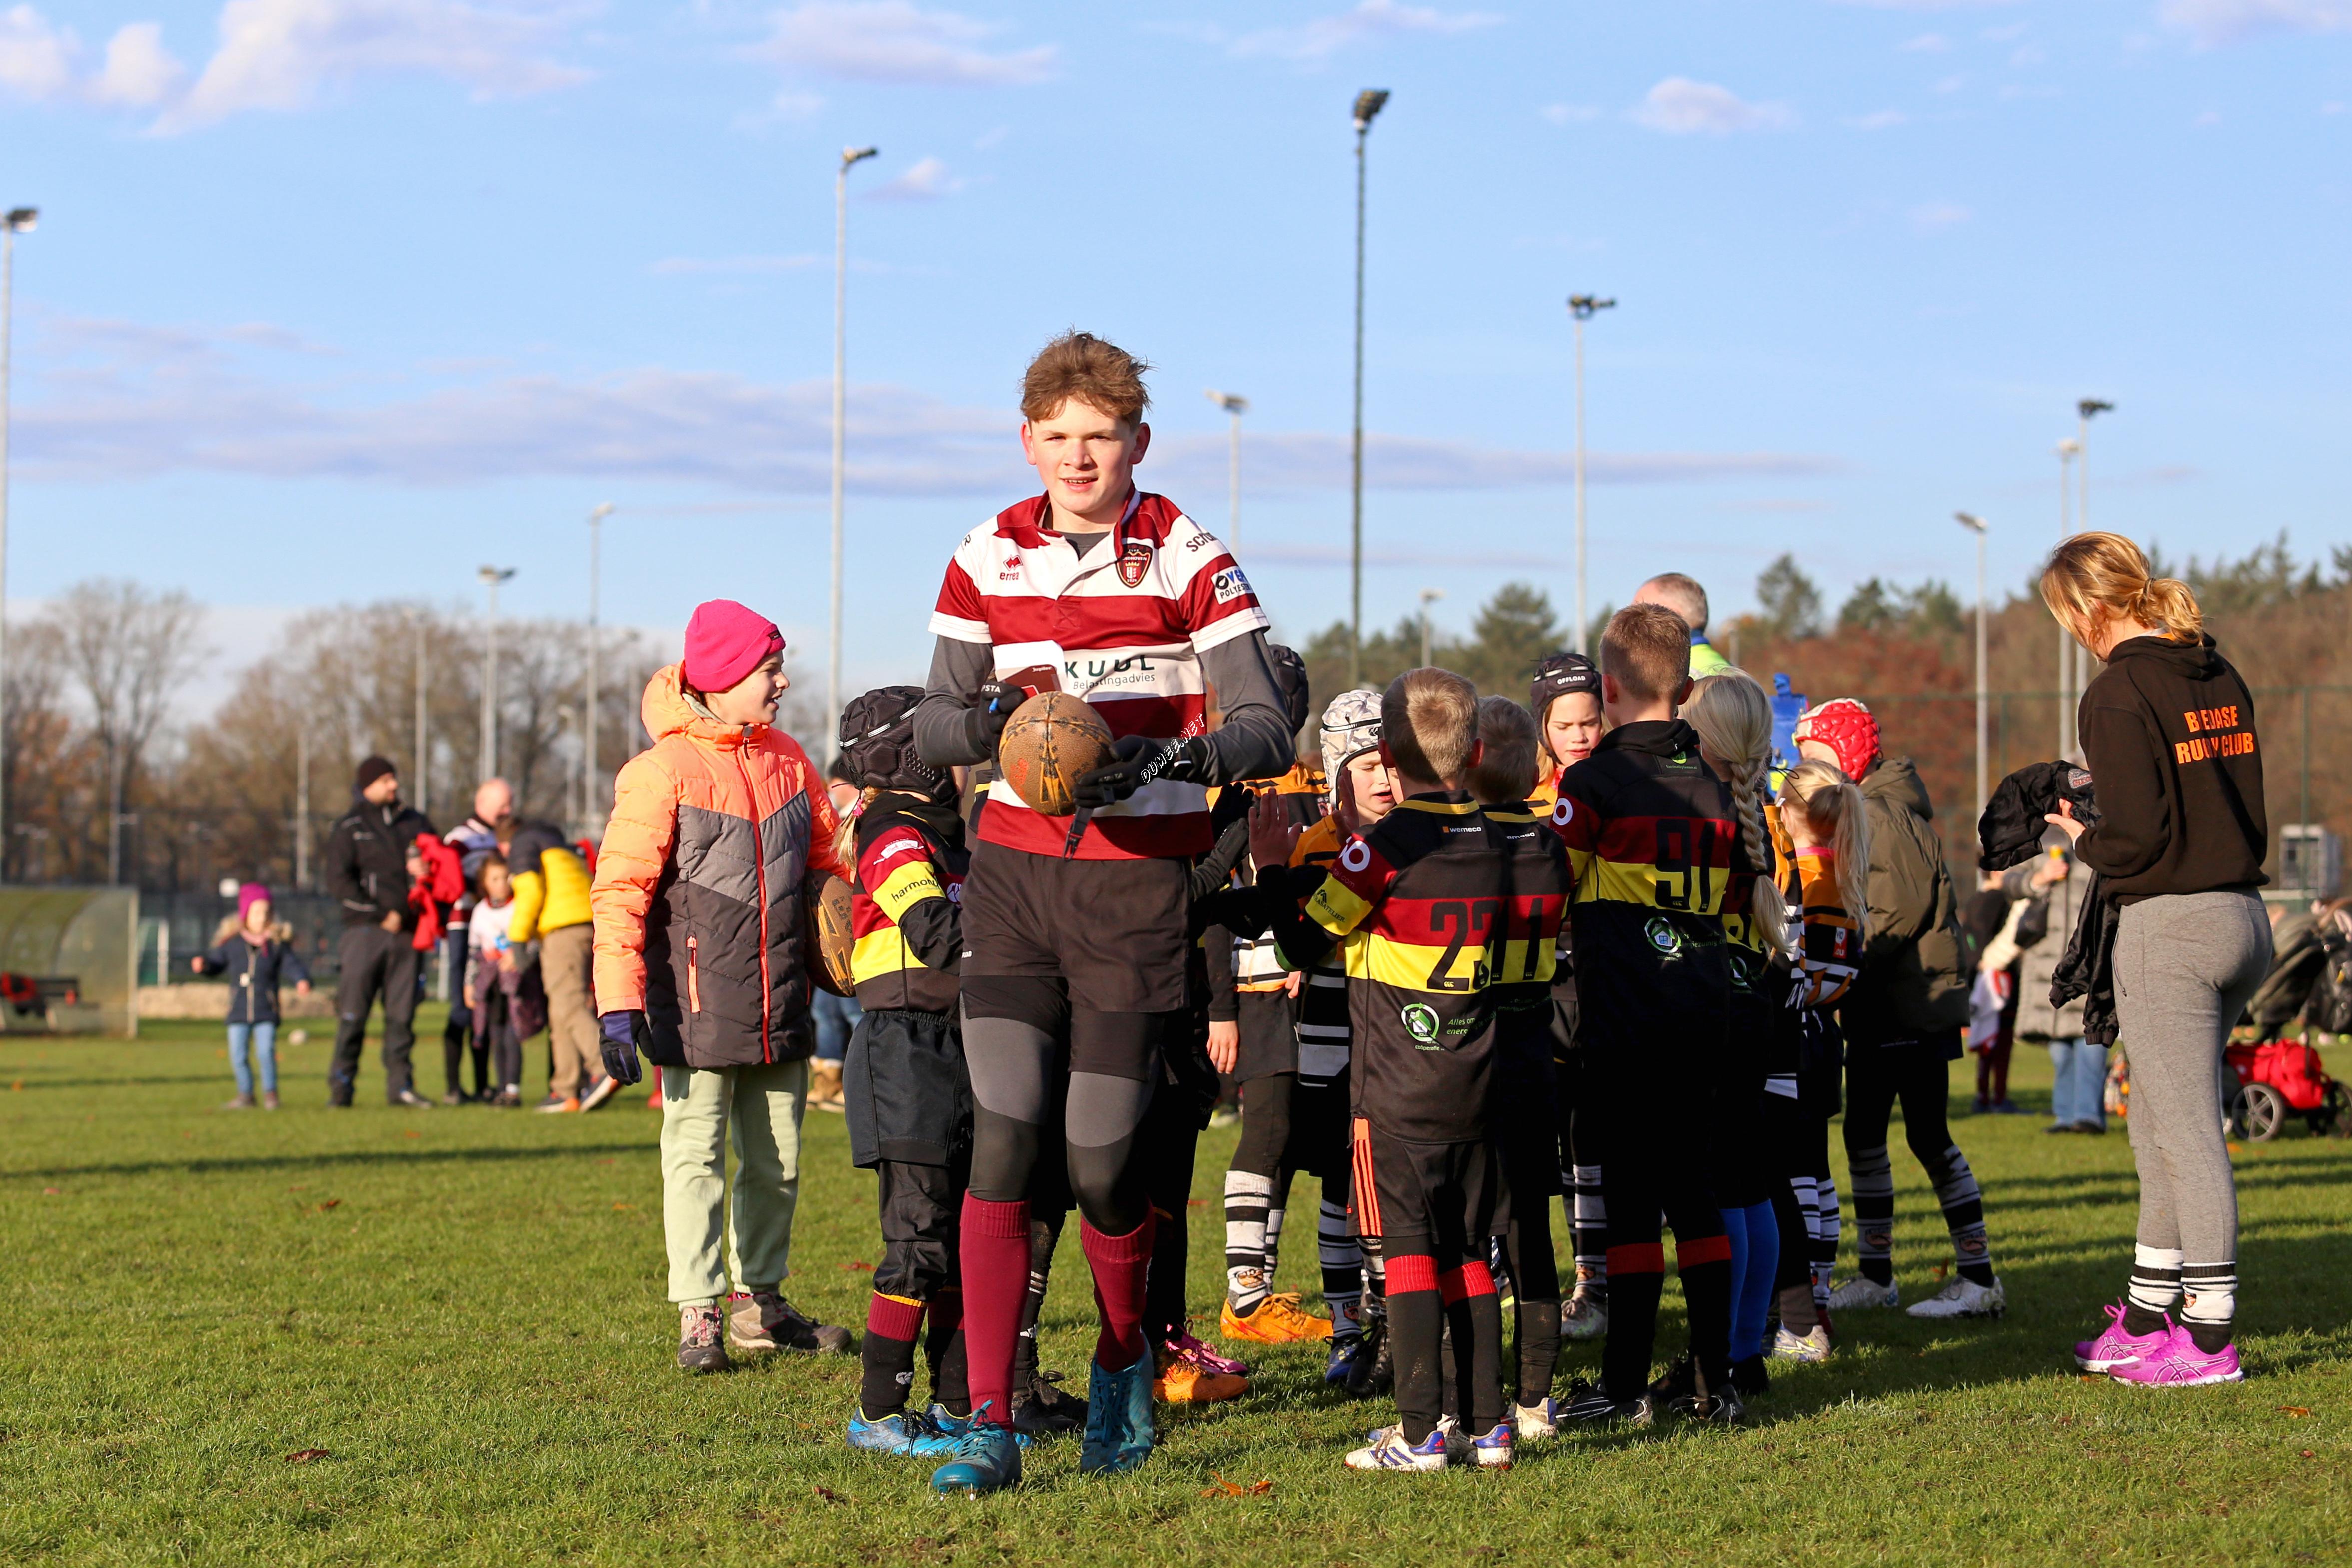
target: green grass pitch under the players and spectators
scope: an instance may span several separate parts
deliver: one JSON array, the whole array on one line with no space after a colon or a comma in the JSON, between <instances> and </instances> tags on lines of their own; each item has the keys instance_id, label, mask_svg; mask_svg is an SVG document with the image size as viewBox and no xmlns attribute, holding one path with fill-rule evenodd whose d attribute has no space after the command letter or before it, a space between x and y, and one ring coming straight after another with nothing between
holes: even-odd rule
<instances>
[{"instance_id":1,"label":"green grass pitch under the players and spectators","mask_svg":"<svg viewBox=\"0 0 2352 1568\"><path fill-rule=\"evenodd\" d=\"M437 1041L437 1023L426 1030ZM372 1053L374 1056L374 1053ZM1853 1314L1828 1366L1776 1373L1755 1425L1571 1439L1510 1474L1357 1476L1383 1415L1263 1349L1256 1392L1178 1410L1143 1472L1075 1443L1028 1483L934 1502L924 1467L854 1455L854 1361L673 1371L656 1119L329 1114L322 1032L287 1110L219 1114L209 1025L136 1044L0 1041L0 1561L2345 1561L2352 1145L2300 1128L2239 1159L2239 1387L2077 1378L2067 1342L2124 1281L2122 1135L1957 1121L2009 1284L1999 1324ZM2338 1063L2352 1067L2352 1063ZM2018 1098L2046 1058L2018 1053ZM1955 1072L1955 1081L1959 1074ZM426 1072L440 1086L440 1067ZM536 1091L534 1091L536 1093ZM1964 1103L1957 1103L1964 1105ZM1195 1314L1214 1312L1232 1133L1202 1140ZM1905 1295L1945 1255L1898 1154ZM1312 1182L1284 1274L1312 1300ZM873 1180L809 1119L793 1295L858 1324ZM1661 1342L1672 1342L1672 1312ZM1082 1373L1068 1239L1047 1363ZM1588 1371L1571 1347L1564 1373ZM287 1462L325 1448L327 1458ZM1218 1479L1254 1486L1230 1495Z\"/></svg>"}]
</instances>

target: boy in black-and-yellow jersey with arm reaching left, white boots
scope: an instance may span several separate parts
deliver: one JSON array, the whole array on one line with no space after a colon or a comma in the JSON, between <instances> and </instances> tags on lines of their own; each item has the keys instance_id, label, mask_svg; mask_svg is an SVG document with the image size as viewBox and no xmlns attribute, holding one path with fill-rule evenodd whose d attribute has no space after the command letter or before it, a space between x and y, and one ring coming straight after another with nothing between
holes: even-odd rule
<instances>
[{"instance_id":1,"label":"boy in black-and-yellow jersey with arm reaching left, white boots","mask_svg":"<svg viewBox=\"0 0 2352 1568\"><path fill-rule=\"evenodd\" d=\"M1463 790L1477 766L1477 691L1449 670L1409 670L1381 693L1381 757L1397 802L1352 835L1301 912L1258 898L1289 969L1338 947L1348 969L1355 1131L1350 1190L1388 1260L1397 1415L1350 1469L1444 1469L1454 1441L1508 1467L1503 1316L1486 1237L1503 1180L1489 1128L1494 1001L1505 900L1503 832ZM1242 919L1251 919L1242 914ZM1444 1333L1468 1345L1465 1432L1444 1422Z\"/></svg>"}]
</instances>

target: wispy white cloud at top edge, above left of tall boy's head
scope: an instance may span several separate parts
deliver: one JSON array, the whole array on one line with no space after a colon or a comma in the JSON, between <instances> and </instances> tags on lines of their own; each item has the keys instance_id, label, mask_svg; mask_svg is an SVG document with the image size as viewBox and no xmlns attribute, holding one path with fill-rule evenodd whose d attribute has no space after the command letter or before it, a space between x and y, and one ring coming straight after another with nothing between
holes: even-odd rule
<instances>
[{"instance_id":1,"label":"wispy white cloud at top edge, above left of tall boy's head","mask_svg":"<svg viewBox=\"0 0 2352 1568\"><path fill-rule=\"evenodd\" d=\"M753 59L896 87L1030 87L1054 75L1054 45L990 49L1004 28L910 0L807 0L776 12Z\"/></svg>"}]
</instances>

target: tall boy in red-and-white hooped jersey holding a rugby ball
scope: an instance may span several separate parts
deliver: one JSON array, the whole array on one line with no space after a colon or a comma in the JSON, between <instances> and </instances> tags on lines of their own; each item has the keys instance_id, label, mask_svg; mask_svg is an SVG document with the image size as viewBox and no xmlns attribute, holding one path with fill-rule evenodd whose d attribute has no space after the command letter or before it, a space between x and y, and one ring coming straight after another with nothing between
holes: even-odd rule
<instances>
[{"instance_id":1,"label":"tall boy in red-and-white hooped jersey holding a rugby ball","mask_svg":"<svg viewBox=\"0 0 2352 1568\"><path fill-rule=\"evenodd\" d=\"M1065 334L1021 383L1021 451L1044 494L957 545L938 590L915 738L931 764L995 755L1035 665L1084 696L1115 759L1047 818L1011 790L981 806L964 879L962 1018L971 1187L962 1213L974 1427L931 1483L1021 1479L1011 1363L1028 1284L1028 1185L1068 1164L1101 1333L1082 1472L1131 1469L1152 1443L1143 1281L1152 1253L1136 1131L1160 1041L1185 1006L1188 870L1211 846L1209 785L1291 764L1265 611L1232 555L1164 496L1136 489L1150 447L1143 362ZM1223 724L1207 733L1209 686ZM1056 1074L1068 1095L1047 1126Z\"/></svg>"}]
</instances>

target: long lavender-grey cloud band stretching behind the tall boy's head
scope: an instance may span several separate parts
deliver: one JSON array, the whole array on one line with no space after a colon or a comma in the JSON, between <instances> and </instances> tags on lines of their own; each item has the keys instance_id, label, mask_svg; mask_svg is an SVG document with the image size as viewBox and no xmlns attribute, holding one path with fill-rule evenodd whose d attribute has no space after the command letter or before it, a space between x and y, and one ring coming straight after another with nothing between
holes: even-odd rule
<instances>
[{"instance_id":1,"label":"long lavender-grey cloud band stretching behind the tall boy's head","mask_svg":"<svg viewBox=\"0 0 2352 1568\"><path fill-rule=\"evenodd\" d=\"M16 407L33 477L106 482L165 473L341 477L397 484L659 477L750 491L823 494L830 381L760 383L731 371L642 367L602 376L487 367L423 395L355 402L350 381L306 383L259 346L266 329L42 322L45 367ZM306 371L303 364L294 367ZM957 407L901 386L849 390L849 480L868 494L1000 494L1028 482L1011 407ZM1348 484L1345 433L1251 433L1261 491ZM1818 477L1809 454L1595 454L1599 482L1668 484ZM1367 477L1385 489L1564 484L1566 451L1369 435ZM1148 484L1223 494L1225 435L1152 444Z\"/></svg>"}]
</instances>

